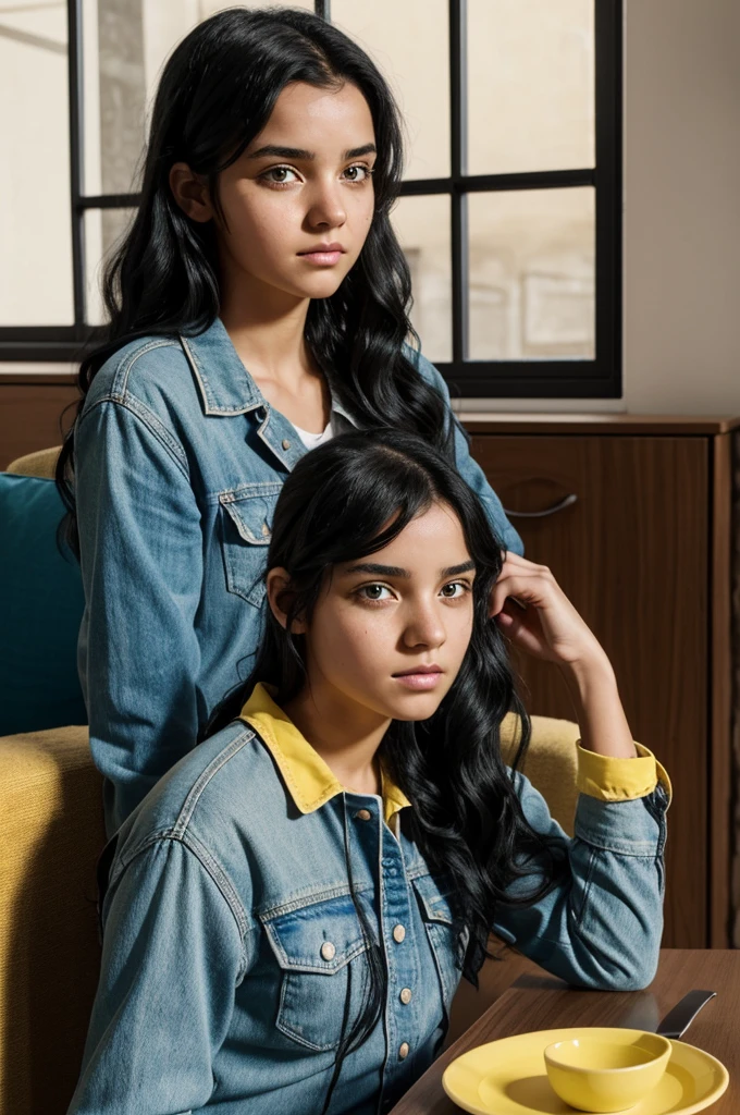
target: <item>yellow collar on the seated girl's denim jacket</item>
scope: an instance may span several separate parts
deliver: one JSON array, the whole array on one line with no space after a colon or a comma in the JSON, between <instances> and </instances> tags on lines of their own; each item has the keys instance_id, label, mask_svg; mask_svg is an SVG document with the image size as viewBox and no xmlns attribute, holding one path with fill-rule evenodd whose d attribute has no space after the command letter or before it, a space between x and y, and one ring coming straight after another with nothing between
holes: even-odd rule
<instances>
[{"instance_id":1,"label":"yellow collar on the seated girl's denim jacket","mask_svg":"<svg viewBox=\"0 0 740 1115\"><path fill-rule=\"evenodd\" d=\"M270 750L293 801L301 813L313 813L344 787L321 756L298 730L293 721L275 705L262 683L240 712L240 719L251 724ZM382 773L383 815L387 823L411 803L390 778Z\"/></svg>"}]
</instances>

